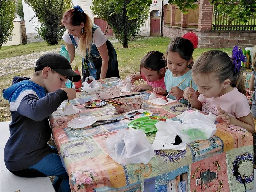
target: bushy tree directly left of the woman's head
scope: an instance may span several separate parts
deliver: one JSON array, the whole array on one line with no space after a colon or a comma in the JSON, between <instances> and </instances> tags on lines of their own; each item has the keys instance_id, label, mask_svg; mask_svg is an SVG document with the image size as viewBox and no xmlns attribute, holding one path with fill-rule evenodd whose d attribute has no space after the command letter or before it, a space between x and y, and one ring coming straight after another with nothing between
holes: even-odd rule
<instances>
[{"instance_id":1,"label":"bushy tree directly left of the woman's head","mask_svg":"<svg viewBox=\"0 0 256 192\"><path fill-rule=\"evenodd\" d=\"M50 45L58 44L65 32L64 26L61 25L61 19L64 12L71 8L71 0L24 1L36 12L36 17L41 23L37 27L39 35Z\"/></svg>"}]
</instances>

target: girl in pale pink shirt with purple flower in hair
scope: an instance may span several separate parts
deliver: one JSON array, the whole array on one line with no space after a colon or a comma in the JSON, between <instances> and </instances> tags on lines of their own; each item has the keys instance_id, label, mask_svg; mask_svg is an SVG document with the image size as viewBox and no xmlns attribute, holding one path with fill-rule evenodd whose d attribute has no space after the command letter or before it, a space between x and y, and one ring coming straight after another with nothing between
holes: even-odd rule
<instances>
[{"instance_id":1,"label":"girl in pale pink shirt with purple flower in hair","mask_svg":"<svg viewBox=\"0 0 256 192\"><path fill-rule=\"evenodd\" d=\"M212 112L217 119L235 124L252 134L255 130L250 106L246 99L241 68L243 53L234 47L232 57L219 50L204 52L192 67L192 78L198 86L199 98L193 88L184 90L184 98L191 94L193 108Z\"/></svg>"}]
</instances>

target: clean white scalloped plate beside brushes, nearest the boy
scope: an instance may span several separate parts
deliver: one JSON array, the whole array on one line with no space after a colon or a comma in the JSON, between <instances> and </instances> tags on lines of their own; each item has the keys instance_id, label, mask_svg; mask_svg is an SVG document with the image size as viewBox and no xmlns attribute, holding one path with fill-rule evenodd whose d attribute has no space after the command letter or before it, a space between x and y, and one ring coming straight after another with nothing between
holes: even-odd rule
<instances>
[{"instance_id":1,"label":"clean white scalloped plate beside brushes, nearest the boy","mask_svg":"<svg viewBox=\"0 0 256 192\"><path fill-rule=\"evenodd\" d=\"M97 121L97 117L95 116L90 116L90 115L81 116L69 121L68 127L71 127L73 129L84 128L94 124L96 121Z\"/></svg>"}]
</instances>

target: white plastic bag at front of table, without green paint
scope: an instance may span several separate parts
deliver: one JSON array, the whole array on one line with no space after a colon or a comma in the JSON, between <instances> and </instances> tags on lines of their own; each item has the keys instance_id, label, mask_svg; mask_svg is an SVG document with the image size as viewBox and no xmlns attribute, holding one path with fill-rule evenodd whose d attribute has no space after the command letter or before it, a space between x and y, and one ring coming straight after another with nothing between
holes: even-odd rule
<instances>
[{"instance_id":1,"label":"white plastic bag at front of table, without green paint","mask_svg":"<svg viewBox=\"0 0 256 192\"><path fill-rule=\"evenodd\" d=\"M119 130L105 141L109 156L118 164L147 164L154 156L154 150L141 130L129 128Z\"/></svg>"}]
</instances>

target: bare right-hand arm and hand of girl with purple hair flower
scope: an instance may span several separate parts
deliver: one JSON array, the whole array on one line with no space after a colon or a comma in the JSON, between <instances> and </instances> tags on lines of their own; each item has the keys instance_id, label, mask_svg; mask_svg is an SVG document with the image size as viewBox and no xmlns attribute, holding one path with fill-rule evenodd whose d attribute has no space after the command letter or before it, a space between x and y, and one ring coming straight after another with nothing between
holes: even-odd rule
<instances>
[{"instance_id":1,"label":"bare right-hand arm and hand of girl with purple hair flower","mask_svg":"<svg viewBox=\"0 0 256 192\"><path fill-rule=\"evenodd\" d=\"M247 116L240 117L238 119L229 116L228 113L220 108L220 105L217 105L218 116L217 119L222 119L223 121L227 122L227 124L235 124L239 127L247 129L252 134L255 130L255 124L253 121L252 113L249 113Z\"/></svg>"}]
</instances>

